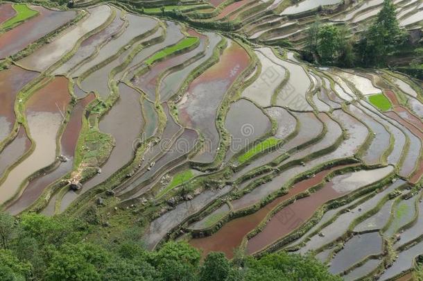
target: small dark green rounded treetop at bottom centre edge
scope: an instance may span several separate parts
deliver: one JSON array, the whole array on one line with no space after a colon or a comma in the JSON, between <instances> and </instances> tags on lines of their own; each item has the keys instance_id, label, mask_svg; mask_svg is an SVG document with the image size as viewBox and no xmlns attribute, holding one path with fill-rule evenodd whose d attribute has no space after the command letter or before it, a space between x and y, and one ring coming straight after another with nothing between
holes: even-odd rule
<instances>
[{"instance_id":1,"label":"small dark green rounded treetop at bottom centre edge","mask_svg":"<svg viewBox=\"0 0 423 281\"><path fill-rule=\"evenodd\" d=\"M227 280L232 267L223 253L209 253L202 266L200 279L202 281Z\"/></svg>"}]
</instances>

